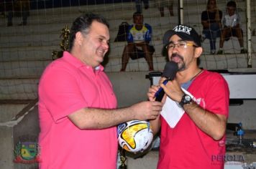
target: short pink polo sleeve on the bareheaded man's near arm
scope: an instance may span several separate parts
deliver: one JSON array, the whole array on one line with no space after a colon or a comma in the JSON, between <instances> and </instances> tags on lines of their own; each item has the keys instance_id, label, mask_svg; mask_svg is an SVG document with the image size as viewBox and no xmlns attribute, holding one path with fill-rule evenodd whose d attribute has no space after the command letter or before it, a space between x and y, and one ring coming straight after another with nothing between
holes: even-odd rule
<instances>
[{"instance_id":1,"label":"short pink polo sleeve on the bareheaded man's near arm","mask_svg":"<svg viewBox=\"0 0 256 169\"><path fill-rule=\"evenodd\" d=\"M50 72L43 74L39 94L55 122L60 122L76 110L88 106L81 95L75 74L65 68L52 68Z\"/></svg>"}]
</instances>

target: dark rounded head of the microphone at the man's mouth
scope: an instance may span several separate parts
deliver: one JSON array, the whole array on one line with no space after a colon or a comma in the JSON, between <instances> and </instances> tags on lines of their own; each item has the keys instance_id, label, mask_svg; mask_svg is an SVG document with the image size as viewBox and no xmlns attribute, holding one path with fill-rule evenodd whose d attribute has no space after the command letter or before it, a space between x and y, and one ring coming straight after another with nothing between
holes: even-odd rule
<instances>
[{"instance_id":1,"label":"dark rounded head of the microphone at the man's mouth","mask_svg":"<svg viewBox=\"0 0 256 169\"><path fill-rule=\"evenodd\" d=\"M170 61L165 64L165 69L163 69L162 77L173 80L177 72L178 64L176 62Z\"/></svg>"}]
</instances>

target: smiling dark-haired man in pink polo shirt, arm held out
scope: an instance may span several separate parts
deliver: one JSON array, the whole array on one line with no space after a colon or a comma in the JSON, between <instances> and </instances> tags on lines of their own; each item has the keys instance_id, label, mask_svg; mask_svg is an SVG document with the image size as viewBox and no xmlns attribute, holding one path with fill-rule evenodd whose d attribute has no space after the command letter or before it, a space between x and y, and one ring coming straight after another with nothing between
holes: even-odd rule
<instances>
[{"instance_id":1,"label":"smiling dark-haired man in pink polo shirt, arm held out","mask_svg":"<svg viewBox=\"0 0 256 169\"><path fill-rule=\"evenodd\" d=\"M116 125L152 120L162 104L140 102L116 109L101 62L109 51L109 24L96 14L78 17L70 51L52 62L39 84L40 168L116 168Z\"/></svg>"}]
</instances>

